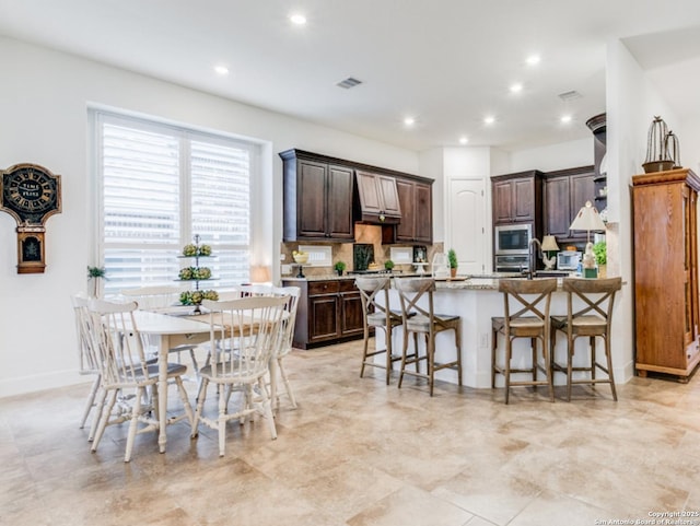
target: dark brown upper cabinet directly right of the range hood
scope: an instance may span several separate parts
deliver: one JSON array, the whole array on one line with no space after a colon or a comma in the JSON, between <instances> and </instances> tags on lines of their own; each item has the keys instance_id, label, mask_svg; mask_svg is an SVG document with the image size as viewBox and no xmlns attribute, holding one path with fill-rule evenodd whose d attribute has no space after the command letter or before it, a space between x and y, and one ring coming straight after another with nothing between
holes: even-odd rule
<instances>
[{"instance_id":1,"label":"dark brown upper cabinet directly right of the range hood","mask_svg":"<svg viewBox=\"0 0 700 526\"><path fill-rule=\"evenodd\" d=\"M384 243L433 243L433 182L396 178L401 221L383 229Z\"/></svg>"}]
</instances>

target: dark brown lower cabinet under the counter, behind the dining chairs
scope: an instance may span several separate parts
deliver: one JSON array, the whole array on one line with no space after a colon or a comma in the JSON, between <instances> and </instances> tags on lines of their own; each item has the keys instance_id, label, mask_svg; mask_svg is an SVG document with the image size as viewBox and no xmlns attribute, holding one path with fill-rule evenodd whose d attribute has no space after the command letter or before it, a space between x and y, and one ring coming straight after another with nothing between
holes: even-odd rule
<instances>
[{"instance_id":1,"label":"dark brown lower cabinet under the counter, behind the dining chairs","mask_svg":"<svg viewBox=\"0 0 700 526\"><path fill-rule=\"evenodd\" d=\"M301 289L294 347L311 349L362 338L362 300L354 280L284 280L282 283Z\"/></svg>"}]
</instances>

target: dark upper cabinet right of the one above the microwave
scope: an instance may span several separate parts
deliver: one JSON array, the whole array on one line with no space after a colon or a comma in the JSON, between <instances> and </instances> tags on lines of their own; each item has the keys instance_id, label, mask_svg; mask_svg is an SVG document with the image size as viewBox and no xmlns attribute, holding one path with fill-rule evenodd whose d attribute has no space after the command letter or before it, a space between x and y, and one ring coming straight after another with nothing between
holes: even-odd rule
<instances>
[{"instance_id":1,"label":"dark upper cabinet right of the one above the microwave","mask_svg":"<svg viewBox=\"0 0 700 526\"><path fill-rule=\"evenodd\" d=\"M570 231L572 221L586 201L595 202L593 166L549 172L545 176L545 234L558 242L585 239L586 232Z\"/></svg>"}]
</instances>

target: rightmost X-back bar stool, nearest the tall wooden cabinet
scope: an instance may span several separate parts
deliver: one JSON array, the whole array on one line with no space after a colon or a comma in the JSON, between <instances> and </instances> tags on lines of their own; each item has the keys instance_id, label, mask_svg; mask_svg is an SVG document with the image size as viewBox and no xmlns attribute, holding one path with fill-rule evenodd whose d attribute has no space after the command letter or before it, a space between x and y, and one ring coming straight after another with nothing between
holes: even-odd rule
<instances>
[{"instance_id":1,"label":"rightmost X-back bar stool, nearest the tall wooden cabinet","mask_svg":"<svg viewBox=\"0 0 700 526\"><path fill-rule=\"evenodd\" d=\"M567 278L562 281L564 292L567 292L567 316L551 317L551 349L552 367L556 372L567 375L567 401L571 401L571 386L573 384L587 384L595 388L596 384L610 384L612 399L617 401L615 390L615 376L612 373L612 358L610 354L610 327L612 324L612 305L615 294L622 288L621 278L608 279L575 279ZM574 311L574 300L581 305ZM567 366L553 361L553 349L556 344L557 331L567 335ZM590 365L573 366L573 355L575 352L575 341L579 337L588 338L591 350ZM603 365L596 359L596 338L599 337L605 343L606 364ZM607 374L606 378L596 378L596 370ZM573 379L573 372L585 372L590 377Z\"/></svg>"}]
</instances>

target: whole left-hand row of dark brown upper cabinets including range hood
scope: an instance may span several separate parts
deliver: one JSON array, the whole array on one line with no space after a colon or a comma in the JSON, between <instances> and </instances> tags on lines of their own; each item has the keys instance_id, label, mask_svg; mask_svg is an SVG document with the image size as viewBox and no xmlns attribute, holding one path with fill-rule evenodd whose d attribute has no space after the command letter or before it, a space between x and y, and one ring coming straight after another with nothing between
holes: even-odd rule
<instances>
[{"instance_id":1,"label":"whole left-hand row of dark brown upper cabinets including range hood","mask_svg":"<svg viewBox=\"0 0 700 526\"><path fill-rule=\"evenodd\" d=\"M296 149L279 155L284 242L348 243L361 221L382 225L383 243L432 244L432 179Z\"/></svg>"}]
</instances>

